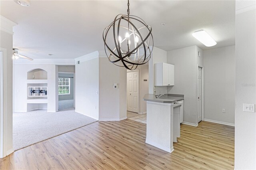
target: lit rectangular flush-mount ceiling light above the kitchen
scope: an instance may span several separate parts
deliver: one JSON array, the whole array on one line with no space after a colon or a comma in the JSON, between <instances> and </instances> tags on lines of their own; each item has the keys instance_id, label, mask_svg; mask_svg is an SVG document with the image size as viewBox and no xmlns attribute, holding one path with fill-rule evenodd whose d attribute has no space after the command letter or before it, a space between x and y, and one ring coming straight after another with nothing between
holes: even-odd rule
<instances>
[{"instance_id":1,"label":"lit rectangular flush-mount ceiling light above the kitchen","mask_svg":"<svg viewBox=\"0 0 256 170\"><path fill-rule=\"evenodd\" d=\"M206 47L212 47L217 43L213 40L213 38L207 34L204 30L196 31L192 34L194 38L203 43Z\"/></svg>"}]
</instances>

